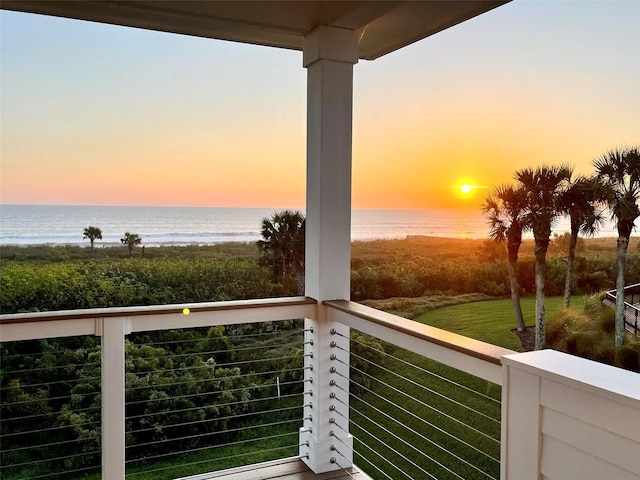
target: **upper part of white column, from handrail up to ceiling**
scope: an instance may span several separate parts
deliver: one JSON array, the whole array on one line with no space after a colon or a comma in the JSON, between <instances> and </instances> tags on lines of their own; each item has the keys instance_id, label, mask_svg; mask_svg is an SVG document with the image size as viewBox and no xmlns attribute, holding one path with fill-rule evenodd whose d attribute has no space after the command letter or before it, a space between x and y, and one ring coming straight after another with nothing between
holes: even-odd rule
<instances>
[{"instance_id":1,"label":"upper part of white column, from handrail up to ceiling","mask_svg":"<svg viewBox=\"0 0 640 480\"><path fill-rule=\"evenodd\" d=\"M351 122L357 39L319 27L304 44L307 68L306 295L349 299Z\"/></svg>"}]
</instances>

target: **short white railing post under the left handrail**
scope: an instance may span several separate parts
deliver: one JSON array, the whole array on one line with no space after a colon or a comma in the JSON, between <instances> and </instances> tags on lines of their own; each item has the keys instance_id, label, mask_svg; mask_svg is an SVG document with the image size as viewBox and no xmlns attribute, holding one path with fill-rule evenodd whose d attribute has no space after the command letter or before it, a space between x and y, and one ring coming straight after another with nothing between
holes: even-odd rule
<instances>
[{"instance_id":1,"label":"short white railing post under the left handrail","mask_svg":"<svg viewBox=\"0 0 640 480\"><path fill-rule=\"evenodd\" d=\"M102 321L102 478L125 478L124 337L127 318Z\"/></svg>"}]
</instances>

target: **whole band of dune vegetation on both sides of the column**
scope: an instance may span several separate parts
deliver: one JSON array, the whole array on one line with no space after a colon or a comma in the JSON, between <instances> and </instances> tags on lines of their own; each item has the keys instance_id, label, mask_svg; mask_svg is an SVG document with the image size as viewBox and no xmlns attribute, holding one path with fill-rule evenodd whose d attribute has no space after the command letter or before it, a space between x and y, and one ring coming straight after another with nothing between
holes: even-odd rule
<instances>
[{"instance_id":1,"label":"whole band of dune vegetation on both sides of the column","mask_svg":"<svg viewBox=\"0 0 640 480\"><path fill-rule=\"evenodd\" d=\"M566 239L549 247L546 293L561 295ZM413 237L355 242L353 300L392 297L509 294L503 249L489 240ZM128 258L126 248L3 247L0 312L16 313L126 305L260 298L285 294L252 244L147 248ZM640 280L640 256L627 259L628 283ZM533 244L525 241L518 265L521 293L535 292ZM585 241L574 265L574 293L615 285L615 240ZM296 289L294 289L295 291Z\"/></svg>"}]
</instances>

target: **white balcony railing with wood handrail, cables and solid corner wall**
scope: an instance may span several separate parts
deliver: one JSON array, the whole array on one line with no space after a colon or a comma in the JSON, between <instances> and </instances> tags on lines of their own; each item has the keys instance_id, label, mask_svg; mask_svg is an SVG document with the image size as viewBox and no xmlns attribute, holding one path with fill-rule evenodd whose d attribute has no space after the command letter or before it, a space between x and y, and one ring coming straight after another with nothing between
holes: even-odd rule
<instances>
[{"instance_id":1,"label":"white balcony railing with wood handrail, cables and solid corner wall","mask_svg":"<svg viewBox=\"0 0 640 480\"><path fill-rule=\"evenodd\" d=\"M57 338L78 339L73 359L44 369L29 345ZM640 476L639 375L514 353L344 300L2 315L0 340L2 478ZM283 345L299 353L288 358ZM170 348L184 361L154 378L149 364ZM196 357L204 361L186 360ZM24 384L38 368L49 380ZM92 378L82 386L80 369ZM249 390L234 384L245 375ZM62 387L69 399L58 402ZM240 413L223 412L238 403ZM61 413L67 424L47 424ZM71 426L99 438L70 443L60 432Z\"/></svg>"}]
</instances>

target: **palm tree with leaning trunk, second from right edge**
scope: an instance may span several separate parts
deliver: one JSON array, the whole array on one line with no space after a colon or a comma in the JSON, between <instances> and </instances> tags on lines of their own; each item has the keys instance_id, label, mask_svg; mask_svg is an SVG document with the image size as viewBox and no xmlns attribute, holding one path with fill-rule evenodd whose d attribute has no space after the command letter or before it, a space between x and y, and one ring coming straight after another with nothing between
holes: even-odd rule
<instances>
[{"instance_id":1,"label":"palm tree with leaning trunk, second from right edge","mask_svg":"<svg viewBox=\"0 0 640 480\"><path fill-rule=\"evenodd\" d=\"M604 216L599 208L602 188L596 177L580 176L575 178L559 197L559 209L569 216L571 234L567 256L567 276L564 284L564 308L571 302L571 283L573 281L573 263L576 256L578 235L593 237L602 224Z\"/></svg>"}]
</instances>

